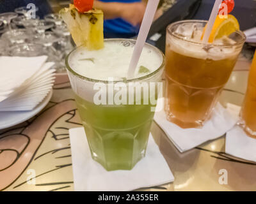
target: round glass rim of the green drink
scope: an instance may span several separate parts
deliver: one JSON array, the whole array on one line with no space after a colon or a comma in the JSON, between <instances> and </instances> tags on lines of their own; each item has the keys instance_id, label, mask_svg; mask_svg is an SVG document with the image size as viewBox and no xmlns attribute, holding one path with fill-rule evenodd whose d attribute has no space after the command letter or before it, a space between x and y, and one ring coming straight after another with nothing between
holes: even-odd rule
<instances>
[{"instance_id":1,"label":"round glass rim of the green drink","mask_svg":"<svg viewBox=\"0 0 256 204\"><path fill-rule=\"evenodd\" d=\"M122 40L125 40L125 41L133 41L134 43L136 42L136 40L134 39L127 39L127 38L108 38L108 39L104 39L104 41L122 41ZM157 50L157 52L159 52L159 54L161 54L161 57L163 58L163 61L161 62L161 65L159 66L159 68L157 68L155 71L149 73L148 75L145 75L143 77L138 77L138 78L132 78L132 79L125 79L125 80L113 80L111 82L113 83L117 83L117 82L125 82L125 83L129 83L129 82L137 82L139 80L145 80L147 78L150 78L150 77L153 77L154 75L156 75L156 73L158 73L159 71L161 71L161 69L164 68L164 64L165 64L165 57L164 57L164 54L161 50L159 50L159 48L157 47L154 47L153 45L150 45L149 43L145 43L145 45L148 45L150 46L151 48L154 48L154 50ZM79 73L77 73L76 71L74 71L68 64L68 59L70 57L70 55L77 50L77 48L80 48L82 47L83 45L79 46L79 47L76 47L74 48L74 50L72 50L66 57L65 59L65 64L66 64L66 68L68 69L68 71L70 71L73 75L75 75L76 77L78 78L81 78L82 80L86 80L86 81L89 81L89 82L102 82L104 84L108 84L109 81L108 80L97 80L97 79L94 79L94 78L88 78L88 77L84 77L83 75L79 75Z\"/></svg>"}]
</instances>

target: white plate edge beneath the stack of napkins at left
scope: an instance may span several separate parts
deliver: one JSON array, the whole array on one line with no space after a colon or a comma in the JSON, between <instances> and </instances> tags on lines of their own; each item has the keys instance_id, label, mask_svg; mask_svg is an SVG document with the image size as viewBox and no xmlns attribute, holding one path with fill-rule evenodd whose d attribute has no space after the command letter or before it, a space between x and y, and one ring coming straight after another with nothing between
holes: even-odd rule
<instances>
[{"instance_id":1,"label":"white plate edge beneath the stack of napkins at left","mask_svg":"<svg viewBox=\"0 0 256 204\"><path fill-rule=\"evenodd\" d=\"M0 112L0 129L10 128L24 122L39 113L51 100L52 90L34 110L19 112Z\"/></svg>"}]
</instances>

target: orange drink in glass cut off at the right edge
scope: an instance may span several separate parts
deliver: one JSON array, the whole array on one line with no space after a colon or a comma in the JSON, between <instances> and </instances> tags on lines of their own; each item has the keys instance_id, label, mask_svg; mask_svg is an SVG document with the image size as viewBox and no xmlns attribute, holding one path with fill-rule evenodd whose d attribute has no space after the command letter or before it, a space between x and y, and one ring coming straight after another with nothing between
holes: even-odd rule
<instances>
[{"instance_id":1,"label":"orange drink in glass cut off at the right edge","mask_svg":"<svg viewBox=\"0 0 256 204\"><path fill-rule=\"evenodd\" d=\"M248 136L256 138L256 52L249 73L248 87L241 110L241 125Z\"/></svg>"}]
</instances>

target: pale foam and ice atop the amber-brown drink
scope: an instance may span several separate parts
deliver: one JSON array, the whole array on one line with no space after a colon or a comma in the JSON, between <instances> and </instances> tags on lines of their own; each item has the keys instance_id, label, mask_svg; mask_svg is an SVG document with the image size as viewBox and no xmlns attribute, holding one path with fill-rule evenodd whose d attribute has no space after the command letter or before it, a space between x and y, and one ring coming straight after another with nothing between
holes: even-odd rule
<instances>
[{"instance_id":1,"label":"pale foam and ice atop the amber-brown drink","mask_svg":"<svg viewBox=\"0 0 256 204\"><path fill-rule=\"evenodd\" d=\"M232 44L236 42L227 36L218 40L214 40L212 46L211 44L209 44L209 47L203 47L200 45L199 43L202 43L201 36L203 29L204 27L202 27L202 24L191 23L179 25L173 34L183 38L184 41L169 36L167 40L168 48L174 52L177 52L181 55L186 55L188 57L195 57L198 59L212 59L214 61L236 57L239 54L240 49L237 49L236 46L232 47ZM189 43L185 40L195 43Z\"/></svg>"}]
</instances>

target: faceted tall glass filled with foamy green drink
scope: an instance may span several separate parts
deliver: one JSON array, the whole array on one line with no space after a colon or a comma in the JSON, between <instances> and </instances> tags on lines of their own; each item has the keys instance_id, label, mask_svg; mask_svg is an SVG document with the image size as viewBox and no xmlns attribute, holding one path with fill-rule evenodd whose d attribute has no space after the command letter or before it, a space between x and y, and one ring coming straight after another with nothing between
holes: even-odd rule
<instances>
[{"instance_id":1,"label":"faceted tall glass filled with foamy green drink","mask_svg":"<svg viewBox=\"0 0 256 204\"><path fill-rule=\"evenodd\" d=\"M152 105L152 103L147 104L141 101L150 101L152 98L156 99L157 91L150 89L150 93L144 95L146 91L143 89L141 101L138 101L136 98L134 99L134 103L128 103L126 105L124 103L116 104L109 102L108 104L100 105L95 103L94 97L98 92L95 89L95 84L109 87L111 83L109 84L108 80L103 79L95 80L94 78L89 78L89 74L80 75L74 71L76 70L76 66L80 66L82 72L86 71L88 67L82 65L84 61L91 64L95 63L92 71L95 71L95 75L100 78L104 71L104 66L109 66L109 63L113 63L113 61L109 61L109 57L115 57L113 55L115 55L116 52L122 52L122 49L125 49L125 47L134 46L135 41L109 39L105 40L105 47L114 45L109 43L116 44L113 47L108 47L108 55L102 55L102 52L104 52L102 50L86 51L87 55L98 57L97 59L93 57L83 59L82 55L84 51L81 47L73 50L66 58L67 72L72 89L75 93L79 115L83 122L92 158L102 164L106 170L131 170L134 165L145 156L150 126L154 117L154 107L156 106L156 104ZM143 77L134 78L132 80L126 80L125 78L113 80L113 84L117 85L117 83L122 83L122 87L127 88L129 83L131 85L131 82L134 82L136 88L139 87L142 82L145 82L147 85L150 82L161 81L164 68L164 55L152 45L146 44L145 48L148 49L149 55L157 57L157 62L152 61L153 64L158 64L158 66L154 68L154 71L148 72ZM131 57L131 53L127 55ZM127 57L127 55L123 55L122 59L116 58L116 61L120 64L121 71L124 61L131 59ZM79 59L79 57L81 59ZM144 61L150 61L150 59L144 59ZM129 64L127 64L127 66L128 65ZM146 69L147 68L143 67L141 71L147 71ZM108 77L113 77L117 71L118 70L112 71L112 73L108 71ZM122 73L125 72L122 71ZM111 100L109 94L111 94L112 89L108 88L106 90L106 96L108 96L108 100ZM126 94L128 95L131 94L134 96L134 93L136 93L132 93L131 90L134 91L134 89L126 90ZM113 91L114 95L115 93L116 91Z\"/></svg>"}]
</instances>

